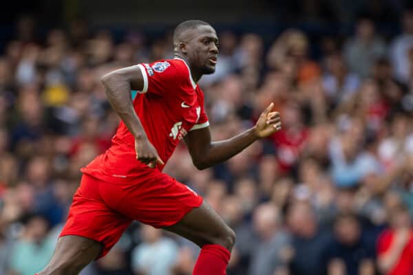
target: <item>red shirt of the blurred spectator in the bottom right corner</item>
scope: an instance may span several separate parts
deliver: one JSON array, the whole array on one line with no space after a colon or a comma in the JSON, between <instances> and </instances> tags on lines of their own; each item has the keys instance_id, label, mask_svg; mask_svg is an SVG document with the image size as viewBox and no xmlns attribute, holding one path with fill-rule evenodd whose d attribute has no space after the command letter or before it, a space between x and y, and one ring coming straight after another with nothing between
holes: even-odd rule
<instances>
[{"instance_id":1,"label":"red shirt of the blurred spectator in the bottom right corner","mask_svg":"<svg viewBox=\"0 0 413 275\"><path fill-rule=\"evenodd\" d=\"M394 230L386 230L379 236L377 244L377 255L381 256L391 248L394 241ZM388 275L412 275L413 274L413 230L410 233L410 239L407 242L399 261L390 270Z\"/></svg>"}]
</instances>

